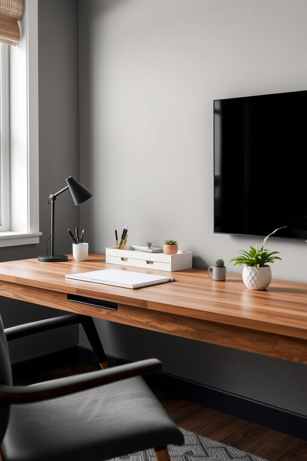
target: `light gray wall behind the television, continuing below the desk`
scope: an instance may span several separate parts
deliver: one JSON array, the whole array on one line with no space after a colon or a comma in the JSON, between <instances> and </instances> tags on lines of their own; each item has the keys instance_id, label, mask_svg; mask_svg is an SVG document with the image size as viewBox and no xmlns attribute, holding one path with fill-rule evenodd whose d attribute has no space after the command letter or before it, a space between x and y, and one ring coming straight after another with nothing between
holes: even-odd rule
<instances>
[{"instance_id":1,"label":"light gray wall behind the television, continuing below the desk","mask_svg":"<svg viewBox=\"0 0 307 461\"><path fill-rule=\"evenodd\" d=\"M213 234L212 100L306 89L307 2L79 3L80 179L94 193L81 223L90 251L104 253L114 226L128 224L129 242L175 238L194 266L229 261L257 239ZM282 257L274 278L306 281L305 242L268 244ZM167 372L307 414L306 366L97 325L110 354L157 356Z\"/></svg>"}]
</instances>

